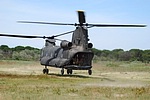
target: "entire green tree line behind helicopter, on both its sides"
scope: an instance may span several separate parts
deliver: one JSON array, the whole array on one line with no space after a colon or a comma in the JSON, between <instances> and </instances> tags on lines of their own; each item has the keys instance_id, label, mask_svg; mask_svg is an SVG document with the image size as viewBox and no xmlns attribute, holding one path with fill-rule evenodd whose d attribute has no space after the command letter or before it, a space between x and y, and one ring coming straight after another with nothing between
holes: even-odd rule
<instances>
[{"instance_id":1,"label":"entire green tree line behind helicopter, on both its sides","mask_svg":"<svg viewBox=\"0 0 150 100\"><path fill-rule=\"evenodd\" d=\"M150 62L150 50L131 49L124 51L123 49L99 50L92 48L94 52L94 61L141 61ZM30 46L16 46L10 48L7 45L0 46L0 60L39 60L40 49Z\"/></svg>"}]
</instances>

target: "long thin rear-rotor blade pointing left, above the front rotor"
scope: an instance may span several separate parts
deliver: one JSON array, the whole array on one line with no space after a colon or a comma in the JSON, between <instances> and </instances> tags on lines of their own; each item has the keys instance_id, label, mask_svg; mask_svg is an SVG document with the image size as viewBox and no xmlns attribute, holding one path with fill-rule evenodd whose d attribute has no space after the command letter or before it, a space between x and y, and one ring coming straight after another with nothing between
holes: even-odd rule
<instances>
[{"instance_id":1,"label":"long thin rear-rotor blade pointing left, above the front rotor","mask_svg":"<svg viewBox=\"0 0 150 100\"><path fill-rule=\"evenodd\" d=\"M75 25L69 23L48 23L48 22L33 22L33 21L17 21L19 23L34 23L34 24L51 24L51 25Z\"/></svg>"}]
</instances>

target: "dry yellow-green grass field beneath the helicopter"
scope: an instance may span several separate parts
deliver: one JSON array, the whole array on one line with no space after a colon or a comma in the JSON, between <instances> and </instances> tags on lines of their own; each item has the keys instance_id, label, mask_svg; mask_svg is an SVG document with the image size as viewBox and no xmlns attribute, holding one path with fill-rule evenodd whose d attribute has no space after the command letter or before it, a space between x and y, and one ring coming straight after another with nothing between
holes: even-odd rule
<instances>
[{"instance_id":1,"label":"dry yellow-green grass field beneath the helicopter","mask_svg":"<svg viewBox=\"0 0 150 100\"><path fill-rule=\"evenodd\" d=\"M34 61L0 61L0 100L150 100L150 65L141 62L97 62L93 75Z\"/></svg>"}]
</instances>

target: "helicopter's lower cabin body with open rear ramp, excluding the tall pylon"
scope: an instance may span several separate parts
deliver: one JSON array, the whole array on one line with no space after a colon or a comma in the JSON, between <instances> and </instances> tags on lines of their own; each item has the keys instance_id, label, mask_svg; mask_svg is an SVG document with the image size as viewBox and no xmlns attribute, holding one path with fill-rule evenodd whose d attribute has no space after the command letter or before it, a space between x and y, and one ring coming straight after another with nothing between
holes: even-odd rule
<instances>
[{"instance_id":1,"label":"helicopter's lower cabin body with open rear ramp, excluding the tall pylon","mask_svg":"<svg viewBox=\"0 0 150 100\"><path fill-rule=\"evenodd\" d=\"M44 47L41 52L41 65L57 68L88 70L92 68L91 51L77 51L76 48L64 50L61 47Z\"/></svg>"}]
</instances>

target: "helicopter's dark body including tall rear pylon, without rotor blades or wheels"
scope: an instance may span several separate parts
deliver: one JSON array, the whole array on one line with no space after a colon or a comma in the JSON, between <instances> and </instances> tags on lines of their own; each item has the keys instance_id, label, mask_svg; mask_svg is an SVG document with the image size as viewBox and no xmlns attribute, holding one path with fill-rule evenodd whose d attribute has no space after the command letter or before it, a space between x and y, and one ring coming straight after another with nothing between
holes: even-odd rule
<instances>
[{"instance_id":1,"label":"helicopter's dark body including tall rear pylon, without rotor blades or wheels","mask_svg":"<svg viewBox=\"0 0 150 100\"><path fill-rule=\"evenodd\" d=\"M89 47L87 30L77 27L72 42L62 41L60 46L47 40L41 51L41 65L72 70L89 70L92 68L94 54Z\"/></svg>"}]
</instances>

